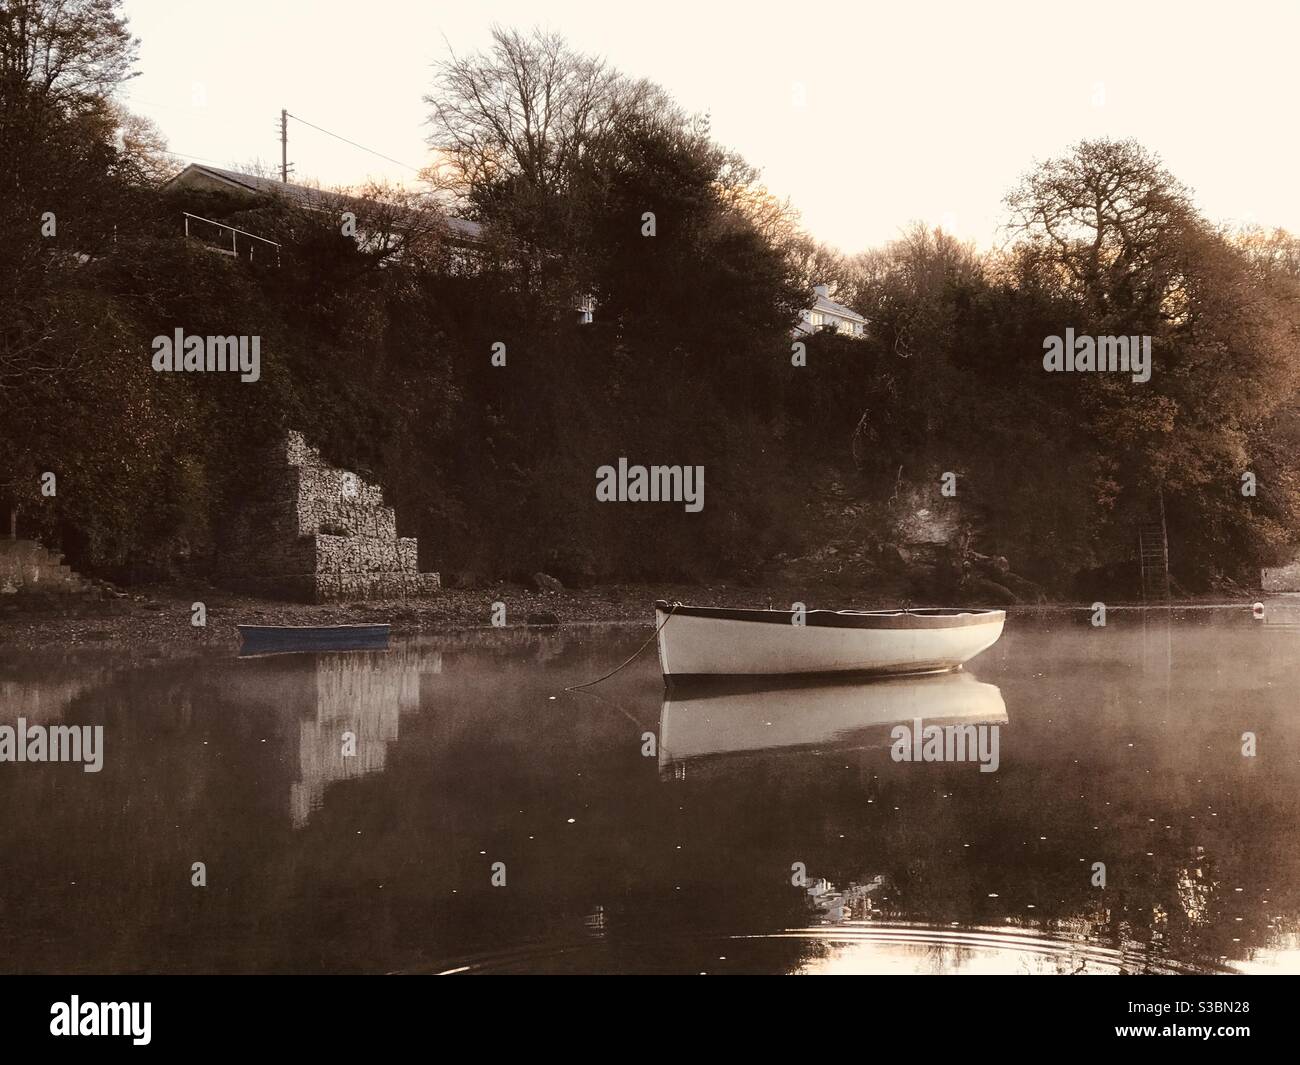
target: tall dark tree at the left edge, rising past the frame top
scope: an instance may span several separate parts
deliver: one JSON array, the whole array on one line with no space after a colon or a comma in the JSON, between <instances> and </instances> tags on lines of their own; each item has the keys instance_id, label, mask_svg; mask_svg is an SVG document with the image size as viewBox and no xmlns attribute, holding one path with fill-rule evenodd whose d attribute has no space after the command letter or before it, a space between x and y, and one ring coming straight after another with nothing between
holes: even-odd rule
<instances>
[{"instance_id":1,"label":"tall dark tree at the left edge, rising past the frame top","mask_svg":"<svg viewBox=\"0 0 1300 1065\"><path fill-rule=\"evenodd\" d=\"M130 213L133 172L113 143L108 94L130 77L135 49L120 0L0 7L0 490L10 514L35 493L34 399L110 335L84 332L96 308L69 289Z\"/></svg>"}]
</instances>

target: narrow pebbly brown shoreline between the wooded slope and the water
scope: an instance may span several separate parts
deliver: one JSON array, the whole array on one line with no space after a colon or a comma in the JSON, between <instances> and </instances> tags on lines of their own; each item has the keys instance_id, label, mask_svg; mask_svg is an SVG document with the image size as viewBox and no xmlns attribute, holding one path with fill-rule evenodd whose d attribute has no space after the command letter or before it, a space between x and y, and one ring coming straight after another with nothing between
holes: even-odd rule
<instances>
[{"instance_id":1,"label":"narrow pebbly brown shoreline between the wooded slope and the water","mask_svg":"<svg viewBox=\"0 0 1300 1065\"><path fill-rule=\"evenodd\" d=\"M1252 593L1257 597L1260 593ZM876 610L927 606L890 592L845 589L829 583L809 588L745 588L714 585L598 585L588 589L537 592L503 584L484 589L450 589L421 599L295 603L235 596L212 588L150 586L122 598L49 598L43 602L16 597L0 599L0 651L51 646L160 646L192 645L237 648L237 624L330 625L387 622L394 636L491 628L493 614L504 605L510 628L598 623L645 623L653 619L655 599L680 599L701 606L788 607L802 602L815 609ZM194 605L202 602L205 624L192 624ZM1130 605L1132 606L1132 605ZM1138 605L1140 606L1140 605ZM1251 598L1223 596L1179 599L1174 607L1240 606ZM1079 609L1087 603L1057 602L1013 607L1017 611ZM1108 610L1126 609L1110 603Z\"/></svg>"}]
</instances>

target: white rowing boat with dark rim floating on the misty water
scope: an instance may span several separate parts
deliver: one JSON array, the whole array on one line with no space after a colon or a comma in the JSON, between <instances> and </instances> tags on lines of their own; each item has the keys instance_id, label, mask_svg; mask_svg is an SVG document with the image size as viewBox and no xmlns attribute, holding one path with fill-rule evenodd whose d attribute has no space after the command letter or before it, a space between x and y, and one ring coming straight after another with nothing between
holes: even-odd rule
<instances>
[{"instance_id":1,"label":"white rowing boat with dark rim floating on the misty water","mask_svg":"<svg viewBox=\"0 0 1300 1065\"><path fill-rule=\"evenodd\" d=\"M1005 610L738 610L655 605L668 676L932 674L997 642Z\"/></svg>"}]
</instances>

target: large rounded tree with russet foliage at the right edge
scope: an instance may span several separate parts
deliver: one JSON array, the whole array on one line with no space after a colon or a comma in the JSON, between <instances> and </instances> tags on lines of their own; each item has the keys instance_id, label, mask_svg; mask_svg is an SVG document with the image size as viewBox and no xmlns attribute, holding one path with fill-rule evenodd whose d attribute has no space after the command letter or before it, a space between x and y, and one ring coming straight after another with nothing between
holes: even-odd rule
<instances>
[{"instance_id":1,"label":"large rounded tree with russet foliage at the right edge","mask_svg":"<svg viewBox=\"0 0 1300 1065\"><path fill-rule=\"evenodd\" d=\"M1265 507L1235 492L1256 427L1300 384L1286 242L1228 239L1131 140L1083 142L1031 172L1008 203L1019 238L1009 276L1061 300L1053 333L1150 338L1149 382L1113 373L1061 382L1062 414L1089 428L1117 528L1149 515L1160 495L1184 577L1216 560L1249 567L1275 545L1269 523L1300 503L1283 492L1264 520ZM1127 531L1114 540L1123 549Z\"/></svg>"}]
</instances>

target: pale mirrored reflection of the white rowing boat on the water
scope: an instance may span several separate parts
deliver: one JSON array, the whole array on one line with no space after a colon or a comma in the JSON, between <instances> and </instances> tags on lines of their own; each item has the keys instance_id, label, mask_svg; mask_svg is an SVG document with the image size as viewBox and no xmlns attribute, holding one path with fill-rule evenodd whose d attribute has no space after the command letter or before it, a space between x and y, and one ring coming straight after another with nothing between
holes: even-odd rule
<instances>
[{"instance_id":1,"label":"pale mirrored reflection of the white rowing boat on the water","mask_svg":"<svg viewBox=\"0 0 1300 1065\"><path fill-rule=\"evenodd\" d=\"M996 684L962 671L857 683L672 681L659 718L659 766L733 752L867 741L874 730L916 718L926 724L1000 724L1006 722L1006 703ZM888 733L879 739L888 744Z\"/></svg>"}]
</instances>

